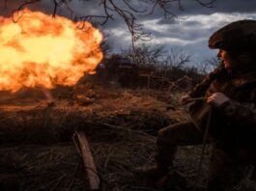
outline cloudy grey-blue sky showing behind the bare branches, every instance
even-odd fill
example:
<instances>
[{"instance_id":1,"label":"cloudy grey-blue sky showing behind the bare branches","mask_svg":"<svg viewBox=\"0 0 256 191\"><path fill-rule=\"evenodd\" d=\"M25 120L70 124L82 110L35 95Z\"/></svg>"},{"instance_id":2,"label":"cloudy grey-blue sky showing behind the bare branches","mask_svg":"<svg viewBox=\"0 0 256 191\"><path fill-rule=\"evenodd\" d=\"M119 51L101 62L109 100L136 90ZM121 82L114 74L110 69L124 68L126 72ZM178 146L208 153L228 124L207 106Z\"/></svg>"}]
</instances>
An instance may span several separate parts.
<instances>
[{"instance_id":1,"label":"cloudy grey-blue sky showing behind the bare branches","mask_svg":"<svg viewBox=\"0 0 256 191\"><path fill-rule=\"evenodd\" d=\"M206 0L204 0L206 2ZM0 2L3 2L1 0ZM8 16L21 0L9 0L6 7L1 5L0 14ZM76 15L101 14L99 0L79 1L72 0L71 8ZM120 0L115 2L120 3ZM136 8L145 8L139 1L131 1ZM144 29L152 34L150 44L165 45L167 48L181 48L192 55L194 63L202 62L216 54L216 50L208 48L208 39L218 28L240 19L256 19L255 0L216 0L213 8L200 6L196 1L183 0L185 11L179 10L179 5L173 3L171 11L179 19L165 19L160 9L149 16L138 16L137 22L144 25ZM52 0L42 0L31 9L52 13ZM58 14L70 16L68 9L63 7ZM113 13L111 13L113 14ZM115 20L110 20L105 26L100 27L104 33L109 34L108 42L114 52L118 52L130 45L130 34L122 17L113 14Z\"/></svg>"}]
</instances>

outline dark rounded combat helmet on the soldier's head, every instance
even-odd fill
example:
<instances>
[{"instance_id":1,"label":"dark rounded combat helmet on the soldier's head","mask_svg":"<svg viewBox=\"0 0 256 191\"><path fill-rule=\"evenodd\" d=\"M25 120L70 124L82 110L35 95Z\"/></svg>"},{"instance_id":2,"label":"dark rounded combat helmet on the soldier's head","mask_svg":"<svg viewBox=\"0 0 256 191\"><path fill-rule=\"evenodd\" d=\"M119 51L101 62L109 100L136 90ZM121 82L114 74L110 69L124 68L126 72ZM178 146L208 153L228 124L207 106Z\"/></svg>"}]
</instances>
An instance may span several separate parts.
<instances>
[{"instance_id":1,"label":"dark rounded combat helmet on the soldier's head","mask_svg":"<svg viewBox=\"0 0 256 191\"><path fill-rule=\"evenodd\" d=\"M213 33L210 48L225 50L255 50L256 20L232 22Z\"/></svg>"}]
</instances>

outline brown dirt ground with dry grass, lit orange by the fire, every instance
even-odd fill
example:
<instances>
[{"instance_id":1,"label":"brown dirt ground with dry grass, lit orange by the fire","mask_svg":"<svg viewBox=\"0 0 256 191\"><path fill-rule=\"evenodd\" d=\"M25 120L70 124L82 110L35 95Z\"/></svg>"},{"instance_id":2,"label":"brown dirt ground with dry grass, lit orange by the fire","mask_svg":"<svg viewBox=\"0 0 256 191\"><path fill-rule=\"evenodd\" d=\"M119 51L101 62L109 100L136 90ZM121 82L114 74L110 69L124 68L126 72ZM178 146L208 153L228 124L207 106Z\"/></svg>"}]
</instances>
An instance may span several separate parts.
<instances>
[{"instance_id":1,"label":"brown dirt ground with dry grass, lit orange by the fire","mask_svg":"<svg viewBox=\"0 0 256 191\"><path fill-rule=\"evenodd\" d=\"M89 140L101 190L165 189L153 188L132 172L154 164L158 129L188 120L177 102L181 94L89 83L51 92L54 106L40 90L0 94L0 190L90 190L72 139L76 131ZM174 168L205 185L210 150L207 147L200 178L200 146L180 148ZM181 182L172 184L172 190L183 190Z\"/></svg>"}]
</instances>

